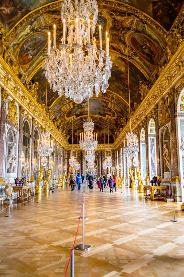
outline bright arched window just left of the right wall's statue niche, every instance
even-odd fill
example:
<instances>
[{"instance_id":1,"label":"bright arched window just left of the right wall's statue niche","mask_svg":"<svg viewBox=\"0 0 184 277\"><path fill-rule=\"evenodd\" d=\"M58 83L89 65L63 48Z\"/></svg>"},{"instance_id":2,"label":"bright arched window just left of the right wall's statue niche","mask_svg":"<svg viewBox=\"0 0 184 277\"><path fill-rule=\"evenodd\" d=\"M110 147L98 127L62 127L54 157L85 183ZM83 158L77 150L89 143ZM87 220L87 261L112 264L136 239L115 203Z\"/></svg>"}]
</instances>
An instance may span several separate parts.
<instances>
[{"instance_id":1,"label":"bright arched window just left of the right wall's statue niche","mask_svg":"<svg viewBox=\"0 0 184 277\"><path fill-rule=\"evenodd\" d=\"M155 120L153 118L150 119L148 125L148 154L149 174L152 178L153 176L157 176Z\"/></svg>"}]
</instances>

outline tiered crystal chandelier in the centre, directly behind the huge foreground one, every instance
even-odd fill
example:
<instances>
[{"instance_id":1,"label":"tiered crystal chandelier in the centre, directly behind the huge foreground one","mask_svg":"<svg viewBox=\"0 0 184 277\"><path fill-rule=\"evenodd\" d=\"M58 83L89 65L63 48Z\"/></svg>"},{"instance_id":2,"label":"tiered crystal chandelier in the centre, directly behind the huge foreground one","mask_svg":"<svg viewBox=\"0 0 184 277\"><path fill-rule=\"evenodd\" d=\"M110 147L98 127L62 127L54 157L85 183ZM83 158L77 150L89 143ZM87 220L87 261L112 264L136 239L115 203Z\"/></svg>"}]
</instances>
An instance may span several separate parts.
<instances>
[{"instance_id":1,"label":"tiered crystal chandelier in the centre, directly behind the huge foreground one","mask_svg":"<svg viewBox=\"0 0 184 277\"><path fill-rule=\"evenodd\" d=\"M97 148L98 140L97 140L97 133L93 134L94 129L94 122L89 118L83 123L84 133L80 133L80 140L79 145L82 150L85 151L93 151Z\"/></svg>"}]
</instances>

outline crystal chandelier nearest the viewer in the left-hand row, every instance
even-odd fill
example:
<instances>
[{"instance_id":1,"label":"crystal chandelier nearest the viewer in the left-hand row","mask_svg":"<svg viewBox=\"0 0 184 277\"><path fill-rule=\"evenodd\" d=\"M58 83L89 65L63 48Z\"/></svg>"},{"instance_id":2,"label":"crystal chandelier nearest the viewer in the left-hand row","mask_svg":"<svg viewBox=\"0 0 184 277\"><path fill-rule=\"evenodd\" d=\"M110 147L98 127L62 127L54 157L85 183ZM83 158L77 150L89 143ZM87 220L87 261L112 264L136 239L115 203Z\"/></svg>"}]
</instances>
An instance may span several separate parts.
<instances>
[{"instance_id":1,"label":"crystal chandelier nearest the viewer in the left-hand row","mask_svg":"<svg viewBox=\"0 0 184 277\"><path fill-rule=\"evenodd\" d=\"M50 140L50 134L48 132L41 133L41 141L38 140L37 151L40 157L48 157L52 154L53 142Z\"/></svg>"}]
</instances>

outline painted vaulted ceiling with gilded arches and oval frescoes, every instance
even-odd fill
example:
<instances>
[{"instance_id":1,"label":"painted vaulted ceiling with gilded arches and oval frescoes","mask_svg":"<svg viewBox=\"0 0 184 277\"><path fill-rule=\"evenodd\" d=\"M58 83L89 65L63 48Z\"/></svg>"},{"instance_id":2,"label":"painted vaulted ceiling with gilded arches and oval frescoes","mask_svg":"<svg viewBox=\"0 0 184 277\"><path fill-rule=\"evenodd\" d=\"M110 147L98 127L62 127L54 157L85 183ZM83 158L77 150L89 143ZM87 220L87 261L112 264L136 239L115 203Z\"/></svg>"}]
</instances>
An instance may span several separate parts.
<instances>
[{"instance_id":1,"label":"painted vaulted ceiling with gilded arches and oval frescoes","mask_svg":"<svg viewBox=\"0 0 184 277\"><path fill-rule=\"evenodd\" d=\"M102 25L102 44L105 47L105 31L109 32L110 55L113 62L112 77L105 94L90 100L91 118L98 130L100 143L107 143L109 118L110 142L117 137L128 120L128 69L130 59L130 93L132 113L141 102L140 81L154 83L162 66L167 64L165 35L170 30L184 1L175 0L121 0L98 1L98 25ZM17 66L22 82L39 82L38 101L45 103L46 78L44 57L47 52L48 26L57 27L57 42L62 37L60 9L62 1L1 0L0 21L6 29L12 53L12 66ZM128 26L128 32L126 31ZM98 26L94 36L98 45ZM1 45L0 45L1 54ZM74 142L77 132L87 119L88 104L75 104L64 95L48 89L49 112L53 122L63 130L71 142L72 121ZM104 136L105 134L105 136Z\"/></svg>"}]
</instances>

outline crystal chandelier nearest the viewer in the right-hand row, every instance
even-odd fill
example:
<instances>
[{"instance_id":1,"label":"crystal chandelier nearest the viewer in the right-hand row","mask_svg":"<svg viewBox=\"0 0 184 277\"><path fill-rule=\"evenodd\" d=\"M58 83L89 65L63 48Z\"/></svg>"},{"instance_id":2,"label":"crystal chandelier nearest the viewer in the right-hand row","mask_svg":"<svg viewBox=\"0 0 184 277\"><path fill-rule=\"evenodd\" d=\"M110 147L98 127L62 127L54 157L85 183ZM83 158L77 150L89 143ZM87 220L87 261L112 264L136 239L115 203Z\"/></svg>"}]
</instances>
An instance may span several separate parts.
<instances>
[{"instance_id":1,"label":"crystal chandelier nearest the viewer in the right-hand row","mask_svg":"<svg viewBox=\"0 0 184 277\"><path fill-rule=\"evenodd\" d=\"M137 140L137 135L133 132L126 135L127 147L124 147L124 153L127 157L132 159L139 152L139 144Z\"/></svg>"}]
</instances>

